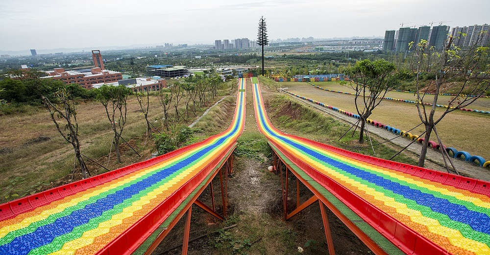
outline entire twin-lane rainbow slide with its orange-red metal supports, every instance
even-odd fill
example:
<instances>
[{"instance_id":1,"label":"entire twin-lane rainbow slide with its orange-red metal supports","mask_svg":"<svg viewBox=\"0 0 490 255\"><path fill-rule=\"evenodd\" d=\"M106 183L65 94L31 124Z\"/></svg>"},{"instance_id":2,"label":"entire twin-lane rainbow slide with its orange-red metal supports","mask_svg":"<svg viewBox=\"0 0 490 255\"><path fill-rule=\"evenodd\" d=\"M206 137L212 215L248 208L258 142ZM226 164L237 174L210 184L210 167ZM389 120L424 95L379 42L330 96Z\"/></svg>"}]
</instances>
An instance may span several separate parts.
<instances>
[{"instance_id":1,"label":"entire twin-lane rainbow slide with its orange-red metal supports","mask_svg":"<svg viewBox=\"0 0 490 255\"><path fill-rule=\"evenodd\" d=\"M221 134L153 159L0 205L0 254L149 255L193 205L224 219L227 176L244 129L245 81L255 117L281 177L284 219L320 204L330 255L326 207L377 255L490 254L490 183L348 152L274 128L256 77L239 79L235 115ZM219 175L223 215L199 201ZM284 178L285 175L285 178ZM293 177L293 176L294 177ZM288 211L291 181L313 192ZM296 189L299 190L299 189Z\"/></svg>"}]
</instances>

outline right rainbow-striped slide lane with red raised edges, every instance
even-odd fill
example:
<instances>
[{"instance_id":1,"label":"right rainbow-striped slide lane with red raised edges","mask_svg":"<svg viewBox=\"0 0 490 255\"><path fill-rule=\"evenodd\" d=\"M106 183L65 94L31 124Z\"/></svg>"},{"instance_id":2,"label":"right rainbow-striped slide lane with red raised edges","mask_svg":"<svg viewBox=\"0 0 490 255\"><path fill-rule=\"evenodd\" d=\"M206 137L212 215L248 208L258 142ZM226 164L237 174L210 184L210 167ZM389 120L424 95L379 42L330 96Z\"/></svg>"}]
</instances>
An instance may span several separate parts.
<instances>
[{"instance_id":1,"label":"right rainbow-striped slide lane with red raised edges","mask_svg":"<svg viewBox=\"0 0 490 255\"><path fill-rule=\"evenodd\" d=\"M333 194L403 253L490 255L489 182L285 134L271 125L258 80L252 78L252 83L258 127L269 142L301 174Z\"/></svg>"}]
</instances>

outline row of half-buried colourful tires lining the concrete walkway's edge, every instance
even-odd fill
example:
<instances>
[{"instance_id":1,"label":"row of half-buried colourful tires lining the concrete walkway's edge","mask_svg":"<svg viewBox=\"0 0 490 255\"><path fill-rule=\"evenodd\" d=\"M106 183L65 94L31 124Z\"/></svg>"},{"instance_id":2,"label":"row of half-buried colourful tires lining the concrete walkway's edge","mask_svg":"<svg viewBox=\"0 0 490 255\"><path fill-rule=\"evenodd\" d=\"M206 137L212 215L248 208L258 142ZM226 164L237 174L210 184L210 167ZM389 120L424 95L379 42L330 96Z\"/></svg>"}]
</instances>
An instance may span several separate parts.
<instances>
[{"instance_id":1,"label":"row of half-buried colourful tires lining the concrete walkway's edge","mask_svg":"<svg viewBox=\"0 0 490 255\"><path fill-rule=\"evenodd\" d=\"M331 110L334 110L334 111L337 111L337 112L340 112L344 115L347 115L349 117L352 117L352 118L355 118L355 119L361 119L361 116L359 116L358 114L354 114L352 112L348 112L348 111L345 111L343 109L340 109L340 108L337 108L335 106L332 106L332 105L328 105L328 104L324 104L322 102L317 102L313 99L309 99L309 98L306 98L306 97L303 97L303 96L299 96L299 95L296 95L292 92L289 92L287 90L283 90L281 89L282 92L286 92L292 96L295 96L297 98L300 98L302 100L305 100L305 101L308 101L308 102L312 102L312 103L315 103L315 104L318 104L322 107L325 107L325 108L328 108L328 109L331 109ZM377 122L377 121L374 121L374 120L371 120L371 119L367 119L366 122L376 128L384 128L390 132L392 132L393 134L397 134L397 135L400 135L400 136L403 136L403 137L407 137L408 139L411 139L412 141L415 141L417 140L417 142L419 143L423 143L424 142L424 138L421 138L419 137L418 135L416 134L412 134L408 131L405 131L405 130L401 130L399 128L394 128L394 127L391 127L389 125L386 125L386 124L382 124L381 122ZM430 148L434 149L434 150L441 150L441 146L435 142L435 141L429 141L428 142L428 145ZM453 147L446 147L446 146L442 146L442 148L444 148L446 150L446 152L449 154L449 156L452 156L453 158L459 158L459 159L464 159L465 161L469 161L469 162L474 162L474 163L477 163L478 165L482 166L482 167L490 167L490 161L486 161L485 158L483 158L482 156L477 156L477 155L471 155L470 153L468 152L465 152L465 151L458 151L457 149L453 148Z\"/></svg>"}]
</instances>

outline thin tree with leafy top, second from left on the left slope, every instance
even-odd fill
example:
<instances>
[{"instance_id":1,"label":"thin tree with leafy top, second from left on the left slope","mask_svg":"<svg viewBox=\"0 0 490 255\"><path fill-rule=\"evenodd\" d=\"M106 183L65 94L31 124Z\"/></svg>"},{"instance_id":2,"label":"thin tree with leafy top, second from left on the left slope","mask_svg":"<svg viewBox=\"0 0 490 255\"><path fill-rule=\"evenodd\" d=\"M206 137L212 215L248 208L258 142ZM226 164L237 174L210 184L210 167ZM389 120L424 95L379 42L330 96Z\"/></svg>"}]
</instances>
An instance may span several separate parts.
<instances>
[{"instance_id":1,"label":"thin tree with leafy top, second from left on the left slope","mask_svg":"<svg viewBox=\"0 0 490 255\"><path fill-rule=\"evenodd\" d=\"M121 163L121 153L119 145L123 135L124 125L126 125L126 105L127 97L132 94L132 90L124 85L108 86L102 85L97 89L97 99L105 107L107 118L111 122L111 128L114 132L114 145L118 163Z\"/></svg>"}]
</instances>

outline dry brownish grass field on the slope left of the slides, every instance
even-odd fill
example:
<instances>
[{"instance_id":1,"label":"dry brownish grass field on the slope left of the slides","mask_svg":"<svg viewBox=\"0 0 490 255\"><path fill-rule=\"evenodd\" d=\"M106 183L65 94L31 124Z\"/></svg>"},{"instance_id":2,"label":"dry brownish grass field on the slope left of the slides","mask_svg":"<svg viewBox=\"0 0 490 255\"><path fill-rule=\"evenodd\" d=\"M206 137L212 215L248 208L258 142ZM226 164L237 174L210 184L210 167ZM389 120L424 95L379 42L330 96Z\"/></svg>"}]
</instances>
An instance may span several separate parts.
<instances>
[{"instance_id":1,"label":"dry brownish grass field on the slope left of the slides","mask_svg":"<svg viewBox=\"0 0 490 255\"><path fill-rule=\"evenodd\" d=\"M233 86L234 88L234 86ZM196 116L191 114L187 124L192 123L202 112L222 96L230 94L230 86L220 92L221 96L209 102L206 107L197 109ZM163 110L156 96L150 96L148 120L161 128ZM169 111L173 116L173 109ZM81 152L106 165L113 139L112 129L107 119L105 109L96 101L80 101L77 104L77 120L79 125L79 139ZM223 125L225 126L225 125ZM35 183L54 181L54 184L63 184L57 179L66 182L66 176L73 169L73 147L66 143L52 123L49 112L39 107L28 114L6 115L0 118L0 187L5 187L9 179L23 177L26 180L25 190ZM147 159L151 154L152 141L146 138L146 123L135 96L128 99L127 122L123 131L123 138L128 141L142 157L136 155L127 146L122 144L123 163L117 164L114 153L110 158L109 169L116 169L124 165ZM46 138L49 137L49 138ZM90 163L87 161L87 163ZM89 170L92 174L105 171L93 165ZM3 198L1 198L3 200Z\"/></svg>"}]
</instances>

